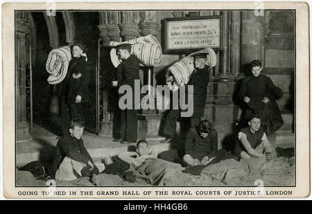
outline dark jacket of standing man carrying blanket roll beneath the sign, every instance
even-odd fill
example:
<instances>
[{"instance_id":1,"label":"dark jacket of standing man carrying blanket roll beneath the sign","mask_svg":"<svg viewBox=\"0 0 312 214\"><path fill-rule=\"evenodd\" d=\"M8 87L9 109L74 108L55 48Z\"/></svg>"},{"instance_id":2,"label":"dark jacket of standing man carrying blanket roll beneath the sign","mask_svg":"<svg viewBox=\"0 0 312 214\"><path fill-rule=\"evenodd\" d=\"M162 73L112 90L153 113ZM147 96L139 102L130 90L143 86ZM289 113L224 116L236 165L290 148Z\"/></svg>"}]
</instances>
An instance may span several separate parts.
<instances>
[{"instance_id":1,"label":"dark jacket of standing man carrying blanket roll beneath the sign","mask_svg":"<svg viewBox=\"0 0 312 214\"><path fill-rule=\"evenodd\" d=\"M204 114L209 73L208 66L205 66L203 69L196 69L191 73L189 82L187 83L187 85L193 85L193 116L200 117Z\"/></svg>"}]
</instances>

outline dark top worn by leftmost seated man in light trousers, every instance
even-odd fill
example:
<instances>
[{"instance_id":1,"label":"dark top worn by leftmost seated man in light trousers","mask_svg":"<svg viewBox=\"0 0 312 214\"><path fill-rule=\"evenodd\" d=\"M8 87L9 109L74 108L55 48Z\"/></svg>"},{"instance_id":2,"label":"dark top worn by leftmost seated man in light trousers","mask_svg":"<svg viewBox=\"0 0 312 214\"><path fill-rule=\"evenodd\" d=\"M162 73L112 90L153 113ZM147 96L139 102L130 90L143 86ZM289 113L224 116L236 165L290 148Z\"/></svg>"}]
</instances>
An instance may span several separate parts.
<instances>
[{"instance_id":1,"label":"dark top worn by leftmost seated man in light trousers","mask_svg":"<svg viewBox=\"0 0 312 214\"><path fill-rule=\"evenodd\" d=\"M70 159L83 162L85 164L87 164L88 161L94 163L92 157L89 152L87 152L85 145L83 144L83 139L77 140L72 136L64 136L58 140L58 144L55 148L55 154L51 163L50 171L52 177L55 176L55 172L58 170L64 157L69 157ZM96 169L96 166L94 166L94 170Z\"/></svg>"}]
</instances>

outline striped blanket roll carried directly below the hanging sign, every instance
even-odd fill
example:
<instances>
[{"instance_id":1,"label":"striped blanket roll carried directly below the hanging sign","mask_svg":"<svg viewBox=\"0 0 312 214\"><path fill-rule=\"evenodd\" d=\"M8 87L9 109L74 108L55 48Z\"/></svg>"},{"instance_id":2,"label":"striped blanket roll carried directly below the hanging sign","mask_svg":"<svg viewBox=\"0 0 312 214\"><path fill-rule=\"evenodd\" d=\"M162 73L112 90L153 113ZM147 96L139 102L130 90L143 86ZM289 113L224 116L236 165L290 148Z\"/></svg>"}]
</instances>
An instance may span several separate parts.
<instances>
[{"instance_id":1,"label":"striped blanket roll carried directly below the hanging sign","mask_svg":"<svg viewBox=\"0 0 312 214\"><path fill-rule=\"evenodd\" d=\"M205 64L209 66L209 68L216 66L216 53L212 48L196 51L186 57L183 57L181 60L168 67L166 71L166 83L171 90L176 91L180 86L189 82L189 77L195 69L193 64L194 60L191 55L196 53L208 53L207 62ZM173 78L171 78L171 76L173 76Z\"/></svg>"}]
</instances>

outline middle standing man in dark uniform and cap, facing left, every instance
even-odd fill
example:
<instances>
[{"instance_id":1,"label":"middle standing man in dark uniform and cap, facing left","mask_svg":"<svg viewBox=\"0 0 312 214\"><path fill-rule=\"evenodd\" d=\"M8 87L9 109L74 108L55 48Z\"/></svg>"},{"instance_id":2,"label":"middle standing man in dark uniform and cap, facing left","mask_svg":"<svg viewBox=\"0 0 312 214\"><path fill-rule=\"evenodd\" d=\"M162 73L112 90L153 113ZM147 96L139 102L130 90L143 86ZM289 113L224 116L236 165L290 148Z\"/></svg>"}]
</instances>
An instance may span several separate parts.
<instances>
[{"instance_id":1,"label":"middle standing man in dark uniform and cap, facing left","mask_svg":"<svg viewBox=\"0 0 312 214\"><path fill-rule=\"evenodd\" d=\"M117 67L116 79L113 86L128 85L132 89L131 108L121 109L121 143L137 143L137 109L135 106L135 80L139 77L139 59L131 55L130 44L120 44L116 47L116 53L123 62ZM119 93L119 98L125 93Z\"/></svg>"}]
</instances>

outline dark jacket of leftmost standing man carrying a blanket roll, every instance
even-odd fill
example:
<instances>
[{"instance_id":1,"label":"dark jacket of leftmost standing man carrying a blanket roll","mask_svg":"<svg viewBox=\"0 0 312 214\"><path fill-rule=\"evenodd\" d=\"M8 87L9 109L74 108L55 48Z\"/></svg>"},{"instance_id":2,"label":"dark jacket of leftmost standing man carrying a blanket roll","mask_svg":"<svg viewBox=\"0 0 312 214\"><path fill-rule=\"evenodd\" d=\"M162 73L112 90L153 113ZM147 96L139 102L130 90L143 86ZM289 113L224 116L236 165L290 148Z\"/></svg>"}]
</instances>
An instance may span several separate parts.
<instances>
[{"instance_id":1,"label":"dark jacket of leftmost standing man carrying a blanket roll","mask_svg":"<svg viewBox=\"0 0 312 214\"><path fill-rule=\"evenodd\" d=\"M67 75L68 81L68 103L76 103L76 96L81 96L81 102L89 101L89 66L85 57L73 57L69 62Z\"/></svg>"}]
</instances>

